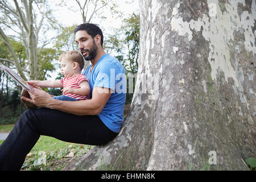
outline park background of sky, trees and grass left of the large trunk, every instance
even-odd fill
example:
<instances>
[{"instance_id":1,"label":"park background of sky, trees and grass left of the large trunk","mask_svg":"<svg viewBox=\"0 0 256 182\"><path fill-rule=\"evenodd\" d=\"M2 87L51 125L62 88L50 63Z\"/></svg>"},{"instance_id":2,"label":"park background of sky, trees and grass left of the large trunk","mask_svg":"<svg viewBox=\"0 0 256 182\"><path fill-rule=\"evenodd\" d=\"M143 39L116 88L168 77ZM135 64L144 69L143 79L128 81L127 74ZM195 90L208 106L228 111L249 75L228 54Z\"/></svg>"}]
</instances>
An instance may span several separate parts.
<instances>
[{"instance_id":1,"label":"park background of sky, trees and grass left of the large trunk","mask_svg":"<svg viewBox=\"0 0 256 182\"><path fill-rule=\"evenodd\" d=\"M31 12L28 12L30 4ZM83 22L98 24L104 34L105 51L117 57L127 74L137 73L138 1L0 1L0 7L0 62L18 72L24 80L61 78L59 55L77 49L73 29ZM27 30L30 23L32 29ZM31 31L34 40L29 40ZM34 46L34 49L29 46ZM13 49L13 54L10 49ZM38 57L37 63L31 61L35 58L32 57L33 51ZM89 61L85 67L88 65ZM19 67L20 70L16 69ZM52 95L61 94L59 88L43 89ZM5 137L26 110L20 102L21 90L20 85L0 70L0 133ZM133 93L127 93L125 115L132 97ZM3 141L0 139L0 144ZM93 146L42 136L28 154L22 170L59 170L90 148Z\"/></svg>"}]
</instances>

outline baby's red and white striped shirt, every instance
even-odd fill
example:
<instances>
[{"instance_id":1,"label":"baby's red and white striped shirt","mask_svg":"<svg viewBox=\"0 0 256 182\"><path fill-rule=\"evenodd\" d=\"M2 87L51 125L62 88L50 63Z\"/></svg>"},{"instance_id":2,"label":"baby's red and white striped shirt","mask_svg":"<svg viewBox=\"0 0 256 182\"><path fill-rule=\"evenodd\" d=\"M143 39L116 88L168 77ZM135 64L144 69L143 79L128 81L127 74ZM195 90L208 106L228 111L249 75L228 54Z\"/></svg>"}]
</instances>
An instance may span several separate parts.
<instances>
[{"instance_id":1,"label":"baby's red and white striped shirt","mask_svg":"<svg viewBox=\"0 0 256 182\"><path fill-rule=\"evenodd\" d=\"M72 76L70 78L64 77L60 81L63 84L64 88L71 86L72 88L78 89L78 88L81 88L79 86L79 84L81 84L82 81L88 81L88 80L85 77L85 75L80 73L79 75L75 75L75 76ZM71 94L71 93L67 93L67 94L63 94L63 95L75 98L76 100L88 100L88 99L90 99L89 96L79 96L77 94Z\"/></svg>"}]
</instances>

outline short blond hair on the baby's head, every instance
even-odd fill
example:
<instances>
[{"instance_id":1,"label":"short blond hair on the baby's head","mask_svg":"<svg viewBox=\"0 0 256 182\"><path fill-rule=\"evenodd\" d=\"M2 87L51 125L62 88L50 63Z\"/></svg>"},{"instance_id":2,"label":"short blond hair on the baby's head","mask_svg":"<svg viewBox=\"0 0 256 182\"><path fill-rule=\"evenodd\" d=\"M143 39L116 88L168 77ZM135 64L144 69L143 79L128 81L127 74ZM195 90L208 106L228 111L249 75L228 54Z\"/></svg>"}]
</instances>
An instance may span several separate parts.
<instances>
[{"instance_id":1,"label":"short blond hair on the baby's head","mask_svg":"<svg viewBox=\"0 0 256 182\"><path fill-rule=\"evenodd\" d=\"M59 61L61 62L63 58L78 63L81 70L84 68L84 57L79 51L66 51L60 55Z\"/></svg>"}]
</instances>

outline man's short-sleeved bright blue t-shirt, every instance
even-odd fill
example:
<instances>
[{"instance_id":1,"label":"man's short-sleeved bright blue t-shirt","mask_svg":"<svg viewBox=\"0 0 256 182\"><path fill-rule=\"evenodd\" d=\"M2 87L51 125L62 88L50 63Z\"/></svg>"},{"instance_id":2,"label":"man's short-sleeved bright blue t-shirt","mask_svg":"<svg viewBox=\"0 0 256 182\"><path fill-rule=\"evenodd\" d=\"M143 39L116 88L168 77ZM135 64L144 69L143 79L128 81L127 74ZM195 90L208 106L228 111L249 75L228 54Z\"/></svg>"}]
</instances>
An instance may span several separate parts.
<instances>
[{"instance_id":1,"label":"man's short-sleeved bright blue t-shirt","mask_svg":"<svg viewBox=\"0 0 256 182\"><path fill-rule=\"evenodd\" d=\"M125 69L115 57L107 54L101 56L92 72L91 68L92 64L83 72L90 84L90 97L92 98L94 86L114 91L98 117L110 130L119 133L123 123L126 97Z\"/></svg>"}]
</instances>

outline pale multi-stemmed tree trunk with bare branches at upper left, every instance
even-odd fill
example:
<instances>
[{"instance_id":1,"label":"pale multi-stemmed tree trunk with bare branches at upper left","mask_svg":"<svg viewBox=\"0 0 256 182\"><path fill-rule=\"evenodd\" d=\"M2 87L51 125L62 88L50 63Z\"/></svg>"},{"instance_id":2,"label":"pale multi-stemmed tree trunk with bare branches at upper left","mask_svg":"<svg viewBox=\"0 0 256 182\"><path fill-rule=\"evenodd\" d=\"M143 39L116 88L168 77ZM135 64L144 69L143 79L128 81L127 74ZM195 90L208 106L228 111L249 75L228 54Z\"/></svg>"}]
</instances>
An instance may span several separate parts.
<instances>
[{"instance_id":1,"label":"pale multi-stemmed tree trunk with bare branches at upper left","mask_svg":"<svg viewBox=\"0 0 256 182\"><path fill-rule=\"evenodd\" d=\"M27 59L29 64L29 73L30 73L30 80L38 80L39 78L39 65L38 65L38 56L37 56L37 48L38 48L38 34L40 29L42 28L42 23L46 14L48 14L46 10L46 6L43 6L43 9L40 9L40 20L38 19L38 15L35 14L35 10L33 9L32 3L38 5L39 2L34 1L27 1L23 0L18 3L18 1L14 0L14 4L16 9L13 6L9 5L9 3L0 1L0 7L3 9L3 13L13 15L11 18L11 22L19 22L12 24L13 27L19 29L19 37L22 39L24 46L26 47ZM40 2L44 4L43 2ZM39 6L38 6L39 8ZM9 16L10 17L10 16ZM36 20L38 20L38 24L36 24ZM14 29L16 29L14 28ZM0 28L0 37L2 37L3 42L5 43L8 51L10 52L11 56L14 60L14 65L19 73L19 75L24 79L27 80L24 72L22 70L22 66L19 63L18 56L14 52L11 43L3 30ZM45 45L44 45L45 46ZM42 47L41 47L42 48Z\"/></svg>"}]
</instances>

